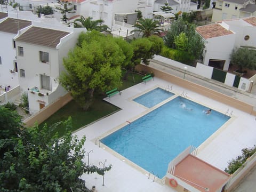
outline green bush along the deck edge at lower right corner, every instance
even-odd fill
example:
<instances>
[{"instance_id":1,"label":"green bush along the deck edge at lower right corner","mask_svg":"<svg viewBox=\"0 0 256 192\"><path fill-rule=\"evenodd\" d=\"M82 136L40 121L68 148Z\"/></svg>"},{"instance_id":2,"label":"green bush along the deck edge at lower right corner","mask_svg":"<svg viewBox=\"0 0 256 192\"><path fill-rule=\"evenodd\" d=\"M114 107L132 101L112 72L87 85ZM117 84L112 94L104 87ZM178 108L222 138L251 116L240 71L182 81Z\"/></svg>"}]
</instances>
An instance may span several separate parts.
<instances>
[{"instance_id":1,"label":"green bush along the deck edge at lower right corner","mask_svg":"<svg viewBox=\"0 0 256 192\"><path fill-rule=\"evenodd\" d=\"M241 167L246 159L251 157L256 152L256 146L254 145L252 148L244 148L242 149L242 155L236 157L236 159L232 159L228 162L228 167L225 169L225 172L228 174L233 174L239 167Z\"/></svg>"}]
</instances>

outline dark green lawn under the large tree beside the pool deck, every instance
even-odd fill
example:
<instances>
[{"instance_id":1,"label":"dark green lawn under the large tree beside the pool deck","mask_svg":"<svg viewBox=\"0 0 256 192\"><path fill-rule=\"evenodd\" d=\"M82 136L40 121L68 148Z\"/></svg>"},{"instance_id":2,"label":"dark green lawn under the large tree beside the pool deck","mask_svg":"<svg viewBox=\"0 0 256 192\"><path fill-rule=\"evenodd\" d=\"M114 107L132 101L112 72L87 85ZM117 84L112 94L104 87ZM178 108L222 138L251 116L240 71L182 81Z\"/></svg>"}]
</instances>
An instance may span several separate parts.
<instances>
[{"instance_id":1,"label":"dark green lawn under the large tree beside the pool deck","mask_svg":"<svg viewBox=\"0 0 256 192\"><path fill-rule=\"evenodd\" d=\"M119 87L119 89L124 90L128 87L138 84L142 81L141 78L142 76L139 74L129 74L127 76L127 79L123 80L123 84L121 87ZM51 117L47 118L43 123L39 125L39 127L42 127L45 123L47 124L47 126L50 126L53 123L65 121L68 119L68 117L72 117L72 131L75 131L85 125L88 125L102 117L105 117L119 110L118 107L111 105L106 101L103 101L102 99L105 97L106 95L97 95L95 97L93 105L87 111L82 110L82 108L74 100L72 100L69 103L67 103L67 105L59 109L56 113L54 113ZM61 125L57 127L56 131L59 132L60 136L62 136L65 133L64 127Z\"/></svg>"}]
</instances>

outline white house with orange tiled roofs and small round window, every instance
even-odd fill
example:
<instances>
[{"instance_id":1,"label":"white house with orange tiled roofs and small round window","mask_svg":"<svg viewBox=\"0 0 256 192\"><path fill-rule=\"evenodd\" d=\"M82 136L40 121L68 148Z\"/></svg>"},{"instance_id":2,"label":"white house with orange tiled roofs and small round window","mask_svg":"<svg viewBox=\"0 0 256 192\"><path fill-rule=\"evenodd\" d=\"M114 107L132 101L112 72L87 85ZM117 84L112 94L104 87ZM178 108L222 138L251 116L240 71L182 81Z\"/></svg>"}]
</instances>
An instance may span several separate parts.
<instances>
[{"instance_id":1,"label":"white house with orange tiled roofs and small round window","mask_svg":"<svg viewBox=\"0 0 256 192\"><path fill-rule=\"evenodd\" d=\"M230 54L235 47L256 47L256 17L225 20L197 27L196 31L205 42L204 65L222 70L228 70Z\"/></svg>"}]
</instances>

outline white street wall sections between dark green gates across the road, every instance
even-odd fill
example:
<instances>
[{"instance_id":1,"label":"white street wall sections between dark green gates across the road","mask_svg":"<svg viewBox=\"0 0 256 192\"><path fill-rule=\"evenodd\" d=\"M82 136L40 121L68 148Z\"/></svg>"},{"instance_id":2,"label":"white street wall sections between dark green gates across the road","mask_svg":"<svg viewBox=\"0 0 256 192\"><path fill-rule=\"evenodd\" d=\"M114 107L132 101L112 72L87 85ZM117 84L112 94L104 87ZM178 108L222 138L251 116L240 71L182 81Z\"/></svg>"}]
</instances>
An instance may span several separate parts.
<instances>
[{"instance_id":1,"label":"white street wall sections between dark green gates across the road","mask_svg":"<svg viewBox=\"0 0 256 192\"><path fill-rule=\"evenodd\" d=\"M170 65L170 66L173 66L173 67L180 68L181 70L184 70L185 67L186 67L186 71L189 71L191 73L194 73L194 74L197 74L197 75L200 75L202 77L209 78L209 79L212 78L213 67L203 65L202 63L197 62L196 67L192 67L192 66L188 66L186 64L183 64L181 62L174 61L172 59L162 57L160 55L155 55L154 60L159 61L159 62L163 62L166 65ZM236 76L235 74L227 73L224 84L232 87L233 84L234 84L234 81L235 81L235 76ZM255 77L255 79L256 79L256 77ZM251 92L251 87L252 87L251 84L252 83L253 83L252 79L246 79L244 77L241 77L239 85L238 85L238 89L242 90L242 91Z\"/></svg>"}]
</instances>

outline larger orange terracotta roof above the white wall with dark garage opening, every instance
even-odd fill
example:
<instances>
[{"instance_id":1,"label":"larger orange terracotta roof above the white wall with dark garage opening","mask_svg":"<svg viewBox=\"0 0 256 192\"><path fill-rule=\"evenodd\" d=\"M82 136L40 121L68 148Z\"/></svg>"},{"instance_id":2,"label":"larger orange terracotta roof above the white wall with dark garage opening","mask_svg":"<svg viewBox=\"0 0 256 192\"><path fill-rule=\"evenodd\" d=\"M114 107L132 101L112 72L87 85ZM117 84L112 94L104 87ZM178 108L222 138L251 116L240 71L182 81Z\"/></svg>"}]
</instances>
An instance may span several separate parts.
<instances>
[{"instance_id":1,"label":"larger orange terracotta roof above the white wall with dark garage opening","mask_svg":"<svg viewBox=\"0 0 256 192\"><path fill-rule=\"evenodd\" d=\"M218 23L197 27L196 31L205 39L233 34L232 31L225 29Z\"/></svg>"}]
</instances>

